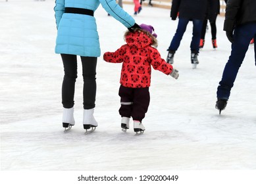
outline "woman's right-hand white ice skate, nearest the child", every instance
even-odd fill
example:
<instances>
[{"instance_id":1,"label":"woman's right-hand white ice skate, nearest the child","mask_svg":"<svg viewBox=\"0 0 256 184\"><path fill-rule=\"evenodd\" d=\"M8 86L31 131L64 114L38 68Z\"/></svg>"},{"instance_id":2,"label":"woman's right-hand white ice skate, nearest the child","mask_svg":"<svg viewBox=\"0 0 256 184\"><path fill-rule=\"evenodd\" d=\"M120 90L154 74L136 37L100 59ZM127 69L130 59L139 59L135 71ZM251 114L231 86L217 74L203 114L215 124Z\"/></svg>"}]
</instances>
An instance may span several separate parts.
<instances>
[{"instance_id":1,"label":"woman's right-hand white ice skate, nearest the child","mask_svg":"<svg viewBox=\"0 0 256 184\"><path fill-rule=\"evenodd\" d=\"M86 129L86 133L91 133L96 129L98 123L96 122L93 116L94 108L84 109L84 129Z\"/></svg>"}]
</instances>

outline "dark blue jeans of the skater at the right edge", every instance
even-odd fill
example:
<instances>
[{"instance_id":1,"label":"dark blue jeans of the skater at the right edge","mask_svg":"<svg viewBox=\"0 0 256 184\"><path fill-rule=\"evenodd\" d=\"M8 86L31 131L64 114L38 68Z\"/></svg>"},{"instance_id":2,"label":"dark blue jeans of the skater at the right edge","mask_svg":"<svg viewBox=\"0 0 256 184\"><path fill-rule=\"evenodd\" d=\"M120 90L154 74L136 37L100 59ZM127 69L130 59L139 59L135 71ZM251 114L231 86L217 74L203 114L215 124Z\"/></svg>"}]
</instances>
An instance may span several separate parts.
<instances>
[{"instance_id":1,"label":"dark blue jeans of the skater at the right edge","mask_svg":"<svg viewBox=\"0 0 256 184\"><path fill-rule=\"evenodd\" d=\"M234 42L232 43L231 55L226 63L222 74L222 80L220 81L217 89L217 98L226 99L230 97L231 88L236 80L236 75L243 62L245 53L248 50L249 43L254 37L256 39L256 23L245 24L238 26L234 30ZM254 44L254 52L256 53L256 44ZM255 54L256 64L256 54Z\"/></svg>"}]
</instances>

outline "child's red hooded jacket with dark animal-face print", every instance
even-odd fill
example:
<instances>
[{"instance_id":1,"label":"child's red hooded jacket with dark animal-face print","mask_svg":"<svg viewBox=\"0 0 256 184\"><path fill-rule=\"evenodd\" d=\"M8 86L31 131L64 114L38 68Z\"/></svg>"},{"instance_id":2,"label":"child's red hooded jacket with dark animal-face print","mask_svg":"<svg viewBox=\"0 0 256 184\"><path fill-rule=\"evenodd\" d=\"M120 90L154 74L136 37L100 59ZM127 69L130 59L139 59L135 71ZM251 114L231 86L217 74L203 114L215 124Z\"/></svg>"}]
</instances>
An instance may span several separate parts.
<instances>
[{"instance_id":1,"label":"child's red hooded jacket with dark animal-face print","mask_svg":"<svg viewBox=\"0 0 256 184\"><path fill-rule=\"evenodd\" d=\"M114 53L104 53L107 62L122 62L120 84L124 87L149 87L151 81L151 66L168 75L172 65L165 62L154 47L152 40L143 32L126 35L126 43Z\"/></svg>"}]
</instances>

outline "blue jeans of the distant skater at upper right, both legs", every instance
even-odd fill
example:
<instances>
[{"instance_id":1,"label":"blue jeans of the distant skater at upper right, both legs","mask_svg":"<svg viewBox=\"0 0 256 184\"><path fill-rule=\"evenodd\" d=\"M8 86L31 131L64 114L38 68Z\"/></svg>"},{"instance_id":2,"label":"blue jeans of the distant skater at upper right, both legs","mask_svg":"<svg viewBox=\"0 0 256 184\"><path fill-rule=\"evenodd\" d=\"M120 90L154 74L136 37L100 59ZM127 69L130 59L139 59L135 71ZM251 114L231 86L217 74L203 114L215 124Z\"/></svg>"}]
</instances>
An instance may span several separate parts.
<instances>
[{"instance_id":1,"label":"blue jeans of the distant skater at upper right, both legs","mask_svg":"<svg viewBox=\"0 0 256 184\"><path fill-rule=\"evenodd\" d=\"M182 37L186 32L188 22L190 22L190 19L188 18L179 18L178 28L176 30L174 37L172 38L172 41L170 42L168 51L177 51L178 47L180 46L180 41L182 40ZM199 43L201 37L201 30L203 26L203 20L192 19L192 22L193 36L190 44L190 50L192 53L199 53Z\"/></svg>"}]
</instances>

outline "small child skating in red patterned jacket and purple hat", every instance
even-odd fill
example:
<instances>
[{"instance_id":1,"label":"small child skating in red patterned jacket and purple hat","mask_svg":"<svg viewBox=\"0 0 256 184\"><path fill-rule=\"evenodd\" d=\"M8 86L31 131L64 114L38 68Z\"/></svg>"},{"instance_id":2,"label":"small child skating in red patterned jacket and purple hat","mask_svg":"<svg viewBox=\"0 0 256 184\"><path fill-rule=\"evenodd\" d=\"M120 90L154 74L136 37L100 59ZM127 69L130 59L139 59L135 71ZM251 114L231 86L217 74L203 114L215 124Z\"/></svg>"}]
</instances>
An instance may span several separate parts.
<instances>
[{"instance_id":1,"label":"small child skating in red patterned jacket and purple hat","mask_svg":"<svg viewBox=\"0 0 256 184\"><path fill-rule=\"evenodd\" d=\"M172 78L178 79L178 70L165 62L157 47L157 34L153 33L153 26L141 24L134 32L124 34L126 41L115 52L107 52L103 59L107 62L122 62L120 76L121 97L119 114L122 116L121 127L123 131L129 128L130 117L134 120L134 131L143 132L145 127L141 121L145 117L149 106L149 86L151 80L151 66ZM152 47L152 46L154 47Z\"/></svg>"}]
</instances>

